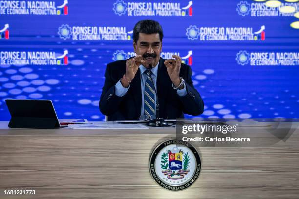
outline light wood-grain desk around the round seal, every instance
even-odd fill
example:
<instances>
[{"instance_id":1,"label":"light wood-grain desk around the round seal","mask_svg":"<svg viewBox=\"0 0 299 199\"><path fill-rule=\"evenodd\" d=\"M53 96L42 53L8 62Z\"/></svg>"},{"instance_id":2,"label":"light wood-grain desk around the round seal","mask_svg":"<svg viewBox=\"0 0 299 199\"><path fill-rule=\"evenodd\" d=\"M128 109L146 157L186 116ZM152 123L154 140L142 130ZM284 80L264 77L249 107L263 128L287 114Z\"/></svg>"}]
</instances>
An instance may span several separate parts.
<instances>
[{"instance_id":1,"label":"light wood-grain desk around the round seal","mask_svg":"<svg viewBox=\"0 0 299 199\"><path fill-rule=\"evenodd\" d=\"M175 128L9 129L0 122L0 199L298 199L299 129L269 147L198 148L202 170L186 190L160 187L149 156ZM298 127L298 123L295 124ZM4 190L34 189L33 196Z\"/></svg>"}]
</instances>

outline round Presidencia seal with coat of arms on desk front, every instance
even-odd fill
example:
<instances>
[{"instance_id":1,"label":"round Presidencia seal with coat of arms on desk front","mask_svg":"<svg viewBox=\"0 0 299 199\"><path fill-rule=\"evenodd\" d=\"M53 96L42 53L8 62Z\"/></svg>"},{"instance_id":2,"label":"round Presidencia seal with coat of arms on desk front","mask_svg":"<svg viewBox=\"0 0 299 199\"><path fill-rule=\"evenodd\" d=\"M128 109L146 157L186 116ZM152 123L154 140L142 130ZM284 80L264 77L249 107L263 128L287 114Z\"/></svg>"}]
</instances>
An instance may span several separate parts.
<instances>
[{"instance_id":1,"label":"round Presidencia seal with coat of arms on desk front","mask_svg":"<svg viewBox=\"0 0 299 199\"><path fill-rule=\"evenodd\" d=\"M200 168L198 152L182 140L171 139L159 144L149 159L152 178L160 186L173 191L191 186L198 178Z\"/></svg>"}]
</instances>

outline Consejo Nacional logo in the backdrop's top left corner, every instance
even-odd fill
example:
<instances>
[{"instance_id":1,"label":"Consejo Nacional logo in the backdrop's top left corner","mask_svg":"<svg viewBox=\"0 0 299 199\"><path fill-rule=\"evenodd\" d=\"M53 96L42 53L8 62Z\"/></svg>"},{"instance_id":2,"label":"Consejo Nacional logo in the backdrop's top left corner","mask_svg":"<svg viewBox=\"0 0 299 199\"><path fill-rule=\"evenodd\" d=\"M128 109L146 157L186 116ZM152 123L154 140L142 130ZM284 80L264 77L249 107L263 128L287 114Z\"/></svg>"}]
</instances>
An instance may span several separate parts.
<instances>
[{"instance_id":1,"label":"Consejo Nacional logo in the backdrop's top left corner","mask_svg":"<svg viewBox=\"0 0 299 199\"><path fill-rule=\"evenodd\" d=\"M56 6L55 1L1 0L1 15L68 15L68 1Z\"/></svg>"}]
</instances>

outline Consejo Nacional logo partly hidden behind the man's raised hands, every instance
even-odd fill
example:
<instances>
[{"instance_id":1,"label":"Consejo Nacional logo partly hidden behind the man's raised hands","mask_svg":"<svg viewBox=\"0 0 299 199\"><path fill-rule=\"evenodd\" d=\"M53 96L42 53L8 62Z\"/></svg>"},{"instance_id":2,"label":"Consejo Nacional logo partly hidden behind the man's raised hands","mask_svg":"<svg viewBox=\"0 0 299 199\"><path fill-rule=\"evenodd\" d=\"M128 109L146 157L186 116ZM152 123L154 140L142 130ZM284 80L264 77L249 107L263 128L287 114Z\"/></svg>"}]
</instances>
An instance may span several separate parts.
<instances>
[{"instance_id":1,"label":"Consejo Nacional logo partly hidden behind the man's raised hands","mask_svg":"<svg viewBox=\"0 0 299 199\"><path fill-rule=\"evenodd\" d=\"M180 56L180 53L179 52L161 52L161 57L164 59L173 59L172 55ZM133 56L136 56L136 53L125 52L123 50L117 50L113 53L112 60L114 60L114 61L126 60ZM188 54L181 58L182 58L182 63L192 66L192 64L193 64L192 50L188 51Z\"/></svg>"}]
</instances>

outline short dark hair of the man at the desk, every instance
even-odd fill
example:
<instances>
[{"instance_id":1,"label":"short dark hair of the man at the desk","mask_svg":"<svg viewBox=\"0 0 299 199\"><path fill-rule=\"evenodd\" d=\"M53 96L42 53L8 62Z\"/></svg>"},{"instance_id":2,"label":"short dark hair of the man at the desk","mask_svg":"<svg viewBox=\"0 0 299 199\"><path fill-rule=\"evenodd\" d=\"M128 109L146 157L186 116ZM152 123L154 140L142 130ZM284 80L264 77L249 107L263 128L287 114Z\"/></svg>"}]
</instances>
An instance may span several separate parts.
<instances>
[{"instance_id":1,"label":"short dark hair of the man at the desk","mask_svg":"<svg viewBox=\"0 0 299 199\"><path fill-rule=\"evenodd\" d=\"M154 20L141 20L138 21L133 30L133 40L137 43L139 39L139 33L154 34L159 33L160 41L162 43L163 30L161 25Z\"/></svg>"}]
</instances>

